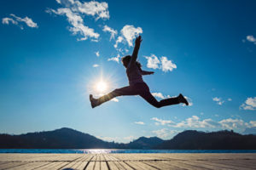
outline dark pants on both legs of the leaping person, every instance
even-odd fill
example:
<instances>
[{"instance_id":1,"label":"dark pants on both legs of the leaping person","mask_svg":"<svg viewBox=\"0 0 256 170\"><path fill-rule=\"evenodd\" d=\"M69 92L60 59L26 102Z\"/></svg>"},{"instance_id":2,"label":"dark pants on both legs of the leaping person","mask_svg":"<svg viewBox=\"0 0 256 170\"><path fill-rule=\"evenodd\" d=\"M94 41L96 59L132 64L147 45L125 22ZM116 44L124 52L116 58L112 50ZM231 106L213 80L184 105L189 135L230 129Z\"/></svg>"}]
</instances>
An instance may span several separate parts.
<instances>
[{"instance_id":1,"label":"dark pants on both legs of the leaping person","mask_svg":"<svg viewBox=\"0 0 256 170\"><path fill-rule=\"evenodd\" d=\"M97 99L97 104L102 105L102 103L110 99L125 95L140 95L143 99L148 101L150 105L154 105L154 107L156 108L160 108L166 105L177 105L180 103L177 97L157 101L154 98L154 96L150 93L148 85L145 82L142 82L124 88L117 88L113 90L111 93L106 94L101 98Z\"/></svg>"}]
</instances>

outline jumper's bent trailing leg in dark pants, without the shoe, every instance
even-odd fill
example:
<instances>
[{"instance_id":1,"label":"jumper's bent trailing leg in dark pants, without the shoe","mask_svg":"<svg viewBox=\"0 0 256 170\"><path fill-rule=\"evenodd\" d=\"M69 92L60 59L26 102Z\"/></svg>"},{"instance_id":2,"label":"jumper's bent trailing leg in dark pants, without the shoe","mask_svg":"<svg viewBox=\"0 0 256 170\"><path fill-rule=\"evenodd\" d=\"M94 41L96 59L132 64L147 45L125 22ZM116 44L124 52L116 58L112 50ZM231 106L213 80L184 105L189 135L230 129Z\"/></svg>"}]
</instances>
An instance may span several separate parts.
<instances>
[{"instance_id":1,"label":"jumper's bent trailing leg in dark pants, without the shoe","mask_svg":"<svg viewBox=\"0 0 256 170\"><path fill-rule=\"evenodd\" d=\"M159 102L154 98L154 96L149 91L143 92L142 94L140 94L140 96L143 97L143 99L145 99L146 101L148 101L150 105L154 105L154 107L156 108L160 108L166 105L177 105L180 103L177 97L162 99Z\"/></svg>"}]
</instances>

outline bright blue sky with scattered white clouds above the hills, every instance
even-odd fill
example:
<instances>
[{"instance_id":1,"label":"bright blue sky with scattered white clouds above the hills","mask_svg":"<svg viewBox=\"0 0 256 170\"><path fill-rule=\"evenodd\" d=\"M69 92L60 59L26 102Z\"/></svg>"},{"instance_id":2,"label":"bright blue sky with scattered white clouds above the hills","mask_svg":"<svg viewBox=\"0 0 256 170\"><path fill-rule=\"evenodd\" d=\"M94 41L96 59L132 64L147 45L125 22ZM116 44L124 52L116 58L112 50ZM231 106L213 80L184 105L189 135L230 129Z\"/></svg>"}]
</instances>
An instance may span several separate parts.
<instances>
[{"instance_id":1,"label":"bright blue sky with scattered white clouds above the hills","mask_svg":"<svg viewBox=\"0 0 256 170\"><path fill-rule=\"evenodd\" d=\"M255 8L248 0L0 1L0 133L71 127L127 143L256 127ZM181 93L189 106L157 109L125 96L91 109L89 94L128 85L120 59L138 35L138 60L154 71L143 77L150 92Z\"/></svg>"}]
</instances>

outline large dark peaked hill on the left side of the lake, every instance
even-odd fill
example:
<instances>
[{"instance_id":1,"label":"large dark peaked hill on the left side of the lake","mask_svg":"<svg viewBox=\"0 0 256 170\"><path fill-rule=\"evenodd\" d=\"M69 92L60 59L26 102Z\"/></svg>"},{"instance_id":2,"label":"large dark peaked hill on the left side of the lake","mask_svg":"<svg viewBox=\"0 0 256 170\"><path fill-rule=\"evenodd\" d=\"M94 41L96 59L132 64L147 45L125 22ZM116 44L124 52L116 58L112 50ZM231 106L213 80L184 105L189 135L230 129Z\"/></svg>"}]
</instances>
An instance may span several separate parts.
<instances>
[{"instance_id":1,"label":"large dark peaked hill on the left side of the lake","mask_svg":"<svg viewBox=\"0 0 256 170\"><path fill-rule=\"evenodd\" d=\"M115 146L114 143L105 142L67 127L40 133L0 135L0 148L81 149L115 148Z\"/></svg>"}]
</instances>

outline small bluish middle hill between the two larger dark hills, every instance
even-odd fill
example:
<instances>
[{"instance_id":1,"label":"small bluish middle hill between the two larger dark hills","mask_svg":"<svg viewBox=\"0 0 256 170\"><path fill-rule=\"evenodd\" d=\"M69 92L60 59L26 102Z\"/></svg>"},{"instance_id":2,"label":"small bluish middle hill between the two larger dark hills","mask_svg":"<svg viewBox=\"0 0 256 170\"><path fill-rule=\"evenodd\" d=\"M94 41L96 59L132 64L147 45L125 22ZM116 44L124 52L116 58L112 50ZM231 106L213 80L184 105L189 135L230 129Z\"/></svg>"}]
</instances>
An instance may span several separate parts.
<instances>
[{"instance_id":1,"label":"small bluish middle hill between the two larger dark hills","mask_svg":"<svg viewBox=\"0 0 256 170\"><path fill-rule=\"evenodd\" d=\"M133 140L129 144L126 144L129 149L151 149L156 145L162 144L165 140L157 137L141 137L139 139Z\"/></svg>"}]
</instances>

